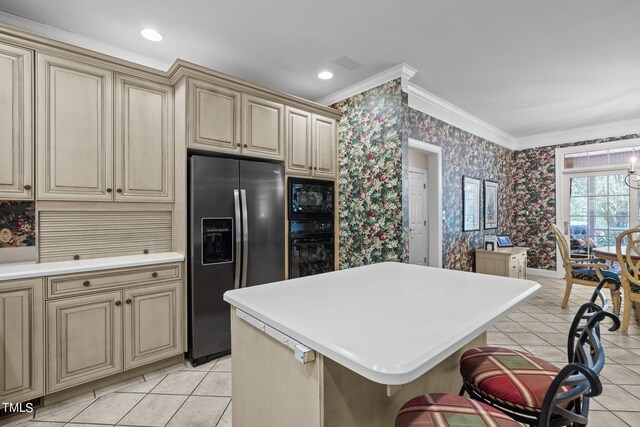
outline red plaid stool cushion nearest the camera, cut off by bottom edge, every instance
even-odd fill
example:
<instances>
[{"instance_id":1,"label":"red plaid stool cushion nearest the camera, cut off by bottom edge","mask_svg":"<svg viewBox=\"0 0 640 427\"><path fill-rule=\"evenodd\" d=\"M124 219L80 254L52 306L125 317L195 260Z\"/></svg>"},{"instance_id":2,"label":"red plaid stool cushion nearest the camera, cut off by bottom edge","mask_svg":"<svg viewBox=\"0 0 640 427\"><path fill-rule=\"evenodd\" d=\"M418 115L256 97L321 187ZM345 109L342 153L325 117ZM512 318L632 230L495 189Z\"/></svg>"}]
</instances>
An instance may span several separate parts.
<instances>
[{"instance_id":1,"label":"red plaid stool cushion nearest the camera, cut off by bottom edge","mask_svg":"<svg viewBox=\"0 0 640 427\"><path fill-rule=\"evenodd\" d=\"M445 393L414 397L396 417L396 427L430 426L521 427L521 424L489 405Z\"/></svg>"}]
</instances>

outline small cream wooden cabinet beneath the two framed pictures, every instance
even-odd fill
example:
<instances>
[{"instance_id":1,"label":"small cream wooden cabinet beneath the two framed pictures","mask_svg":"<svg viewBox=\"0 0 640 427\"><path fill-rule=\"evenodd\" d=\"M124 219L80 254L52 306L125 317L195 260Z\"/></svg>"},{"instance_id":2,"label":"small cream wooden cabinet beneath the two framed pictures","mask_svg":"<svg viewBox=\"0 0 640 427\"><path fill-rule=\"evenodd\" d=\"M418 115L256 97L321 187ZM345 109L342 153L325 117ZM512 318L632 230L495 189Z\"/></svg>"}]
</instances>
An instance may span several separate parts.
<instances>
[{"instance_id":1,"label":"small cream wooden cabinet beneath the two framed pictures","mask_svg":"<svg viewBox=\"0 0 640 427\"><path fill-rule=\"evenodd\" d=\"M476 249L476 273L526 279L528 250L521 246L498 248L495 251Z\"/></svg>"}]
</instances>

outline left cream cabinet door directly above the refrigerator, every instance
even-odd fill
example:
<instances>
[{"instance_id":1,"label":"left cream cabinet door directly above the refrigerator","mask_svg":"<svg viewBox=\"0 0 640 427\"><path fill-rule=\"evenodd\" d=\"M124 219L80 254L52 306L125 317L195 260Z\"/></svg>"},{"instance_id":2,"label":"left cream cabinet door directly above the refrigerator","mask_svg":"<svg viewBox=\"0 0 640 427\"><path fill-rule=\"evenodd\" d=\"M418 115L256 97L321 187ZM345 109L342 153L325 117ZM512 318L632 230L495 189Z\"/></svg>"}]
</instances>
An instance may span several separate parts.
<instances>
[{"instance_id":1,"label":"left cream cabinet door directly above the refrigerator","mask_svg":"<svg viewBox=\"0 0 640 427\"><path fill-rule=\"evenodd\" d=\"M240 92L189 81L189 148L240 154Z\"/></svg>"}]
</instances>

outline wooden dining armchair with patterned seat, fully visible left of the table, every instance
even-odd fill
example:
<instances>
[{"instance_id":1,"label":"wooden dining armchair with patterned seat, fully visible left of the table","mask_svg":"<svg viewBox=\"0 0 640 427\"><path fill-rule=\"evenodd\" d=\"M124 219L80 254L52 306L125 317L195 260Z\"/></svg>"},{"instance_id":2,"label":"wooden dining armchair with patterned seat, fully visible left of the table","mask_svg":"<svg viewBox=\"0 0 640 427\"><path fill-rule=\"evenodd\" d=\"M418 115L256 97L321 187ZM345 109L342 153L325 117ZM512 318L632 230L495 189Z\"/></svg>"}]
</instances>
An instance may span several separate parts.
<instances>
[{"instance_id":1,"label":"wooden dining armchair with patterned seat, fully visible left of the table","mask_svg":"<svg viewBox=\"0 0 640 427\"><path fill-rule=\"evenodd\" d=\"M556 243L562 258L562 266L564 267L566 287L562 300L562 308L567 307L569 297L571 296L571 288L574 284L598 286L602 279L608 277L611 281L606 284L606 287L611 290L613 312L619 314L622 296L620 295L620 290L617 289L614 284L617 283L619 287L620 277L618 274L613 271L608 271L609 266L606 264L606 260L602 258L571 257L569 245L560 229L555 224L551 225L551 229L556 238Z\"/></svg>"}]
</instances>

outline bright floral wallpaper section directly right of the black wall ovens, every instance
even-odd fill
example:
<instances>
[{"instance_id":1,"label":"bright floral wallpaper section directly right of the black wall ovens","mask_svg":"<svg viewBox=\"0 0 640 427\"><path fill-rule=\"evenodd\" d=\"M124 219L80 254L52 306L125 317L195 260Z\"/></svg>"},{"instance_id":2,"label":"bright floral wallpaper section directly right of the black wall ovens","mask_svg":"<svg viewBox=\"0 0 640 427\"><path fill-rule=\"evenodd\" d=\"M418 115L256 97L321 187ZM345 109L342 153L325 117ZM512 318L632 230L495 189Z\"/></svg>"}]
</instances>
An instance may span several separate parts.
<instances>
[{"instance_id":1,"label":"bright floral wallpaper section directly right of the black wall ovens","mask_svg":"<svg viewBox=\"0 0 640 427\"><path fill-rule=\"evenodd\" d=\"M340 268L404 260L400 80L332 107L343 112L338 126Z\"/></svg>"}]
</instances>

